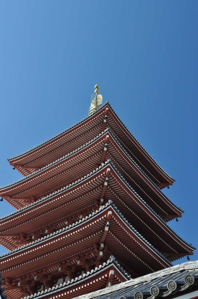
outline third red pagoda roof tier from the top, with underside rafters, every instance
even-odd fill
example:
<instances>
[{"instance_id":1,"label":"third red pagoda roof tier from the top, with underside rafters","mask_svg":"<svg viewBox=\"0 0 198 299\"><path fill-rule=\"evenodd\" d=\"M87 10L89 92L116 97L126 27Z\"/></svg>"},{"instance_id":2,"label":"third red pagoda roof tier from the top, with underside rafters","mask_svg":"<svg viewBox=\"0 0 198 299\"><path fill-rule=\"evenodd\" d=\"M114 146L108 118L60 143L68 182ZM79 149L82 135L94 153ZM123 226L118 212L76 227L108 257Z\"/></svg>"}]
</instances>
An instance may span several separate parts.
<instances>
[{"instance_id":1,"label":"third red pagoda roof tier from the top, with underside rafters","mask_svg":"<svg viewBox=\"0 0 198 299\"><path fill-rule=\"evenodd\" d=\"M51 196L2 217L1 244L13 249L32 238L44 237L92 213L102 199L104 202L111 199L139 233L147 236L169 260L192 254L195 249L171 230L109 162Z\"/></svg>"}]
</instances>

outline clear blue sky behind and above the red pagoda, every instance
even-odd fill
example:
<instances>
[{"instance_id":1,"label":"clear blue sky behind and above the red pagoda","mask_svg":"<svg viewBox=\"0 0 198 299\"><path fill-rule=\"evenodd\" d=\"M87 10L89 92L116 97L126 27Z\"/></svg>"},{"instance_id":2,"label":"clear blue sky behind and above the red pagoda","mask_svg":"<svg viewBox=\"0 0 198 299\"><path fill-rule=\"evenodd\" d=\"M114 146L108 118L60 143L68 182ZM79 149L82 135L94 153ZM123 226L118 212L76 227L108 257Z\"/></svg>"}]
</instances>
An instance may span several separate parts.
<instances>
[{"instance_id":1,"label":"clear blue sky behind and above the red pagoda","mask_svg":"<svg viewBox=\"0 0 198 299\"><path fill-rule=\"evenodd\" d=\"M169 225L198 248L197 14L198 1L1 1L0 186L21 178L7 158L85 118L98 84L176 180L164 192L185 213Z\"/></svg>"}]
</instances>

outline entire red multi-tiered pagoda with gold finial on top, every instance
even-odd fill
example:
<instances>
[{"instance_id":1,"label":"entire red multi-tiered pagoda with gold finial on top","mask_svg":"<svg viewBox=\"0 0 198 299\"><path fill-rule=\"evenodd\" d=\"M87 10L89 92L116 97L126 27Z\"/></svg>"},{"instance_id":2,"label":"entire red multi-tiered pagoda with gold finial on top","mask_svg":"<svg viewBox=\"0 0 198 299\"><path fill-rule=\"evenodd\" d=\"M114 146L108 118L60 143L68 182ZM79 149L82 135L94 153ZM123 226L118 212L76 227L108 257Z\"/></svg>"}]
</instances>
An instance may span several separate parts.
<instances>
[{"instance_id":1,"label":"entire red multi-tiered pagoda with gold finial on top","mask_svg":"<svg viewBox=\"0 0 198 299\"><path fill-rule=\"evenodd\" d=\"M24 178L0 188L16 209L0 219L4 298L75 298L193 254L167 224L174 179L98 89L88 117L8 159Z\"/></svg>"}]
</instances>

